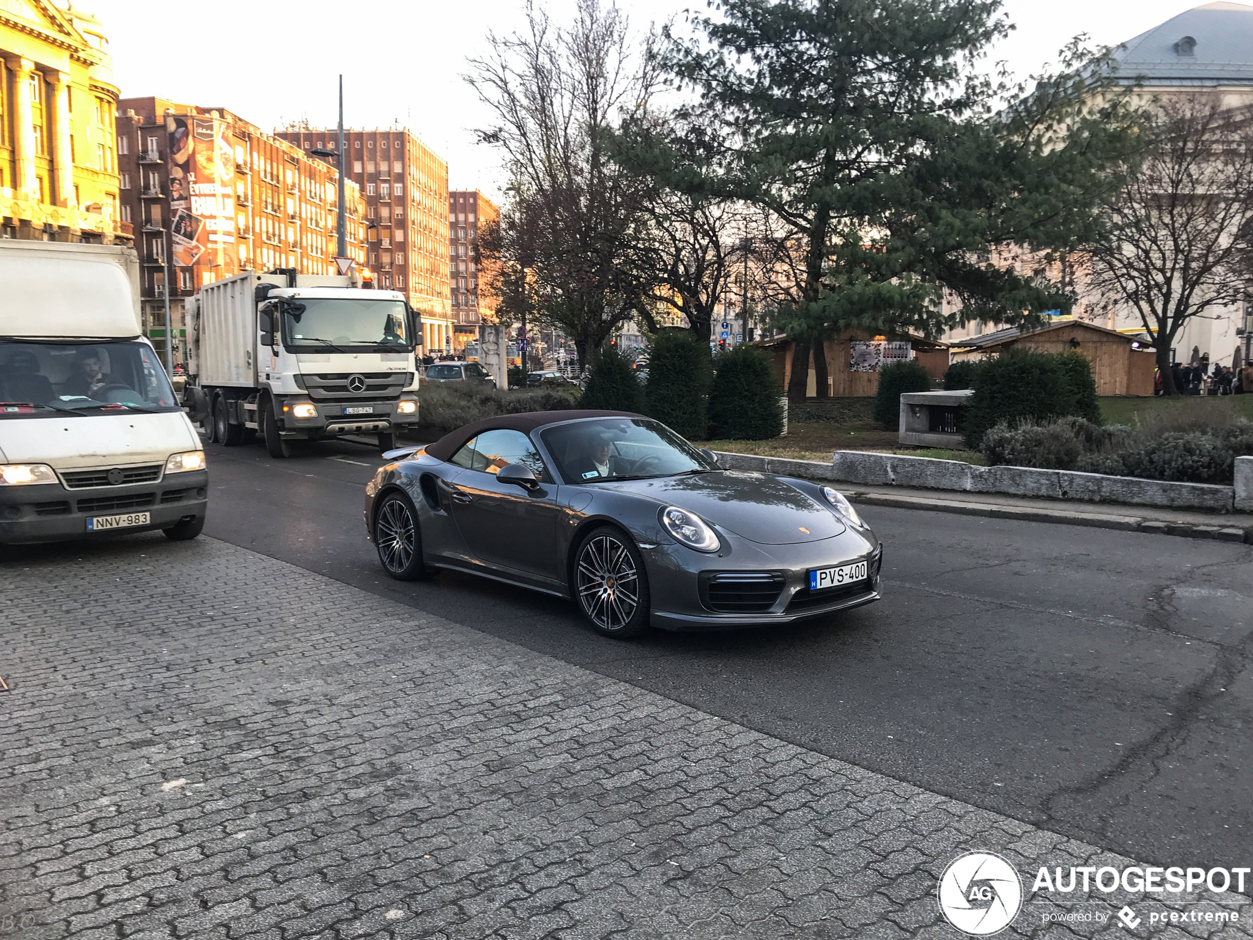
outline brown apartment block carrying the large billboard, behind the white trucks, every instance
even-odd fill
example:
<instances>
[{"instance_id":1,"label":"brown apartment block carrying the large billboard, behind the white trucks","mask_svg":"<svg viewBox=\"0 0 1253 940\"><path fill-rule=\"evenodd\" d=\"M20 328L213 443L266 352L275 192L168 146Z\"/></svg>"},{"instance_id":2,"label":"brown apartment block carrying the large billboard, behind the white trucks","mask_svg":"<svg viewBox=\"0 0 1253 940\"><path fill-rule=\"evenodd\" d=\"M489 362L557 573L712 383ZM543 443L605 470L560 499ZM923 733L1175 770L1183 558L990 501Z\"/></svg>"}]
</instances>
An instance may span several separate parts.
<instances>
[{"instance_id":1,"label":"brown apartment block carrying the large billboard, behind the white trucks","mask_svg":"<svg viewBox=\"0 0 1253 940\"><path fill-rule=\"evenodd\" d=\"M249 269L336 273L333 167L224 108L127 98L119 112L119 192L137 233L144 327L164 343L168 293L175 361L184 301L203 285ZM351 179L345 201L348 253L367 268L366 203Z\"/></svg>"}]
</instances>

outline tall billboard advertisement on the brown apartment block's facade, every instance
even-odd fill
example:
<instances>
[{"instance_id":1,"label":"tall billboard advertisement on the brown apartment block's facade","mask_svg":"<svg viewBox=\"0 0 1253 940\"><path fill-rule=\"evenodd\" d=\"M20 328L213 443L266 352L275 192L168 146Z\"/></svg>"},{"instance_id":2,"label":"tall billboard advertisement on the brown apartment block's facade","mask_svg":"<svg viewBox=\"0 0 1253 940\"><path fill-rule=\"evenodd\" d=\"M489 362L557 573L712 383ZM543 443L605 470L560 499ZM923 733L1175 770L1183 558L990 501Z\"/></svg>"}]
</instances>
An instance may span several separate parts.
<instances>
[{"instance_id":1,"label":"tall billboard advertisement on the brown apartment block's facade","mask_svg":"<svg viewBox=\"0 0 1253 940\"><path fill-rule=\"evenodd\" d=\"M234 149L221 118L168 118L172 261L217 268L212 279L239 269L234 214Z\"/></svg>"}]
</instances>

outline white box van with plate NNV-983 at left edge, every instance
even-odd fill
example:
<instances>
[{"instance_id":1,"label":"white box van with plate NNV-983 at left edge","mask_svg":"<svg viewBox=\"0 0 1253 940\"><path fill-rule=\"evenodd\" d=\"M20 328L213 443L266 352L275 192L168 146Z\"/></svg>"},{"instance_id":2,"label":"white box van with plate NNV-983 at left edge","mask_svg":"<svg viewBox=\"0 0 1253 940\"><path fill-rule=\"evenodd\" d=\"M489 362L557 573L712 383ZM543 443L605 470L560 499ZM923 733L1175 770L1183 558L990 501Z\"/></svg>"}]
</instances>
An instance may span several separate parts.
<instances>
[{"instance_id":1,"label":"white box van with plate NNV-983 at left edge","mask_svg":"<svg viewBox=\"0 0 1253 940\"><path fill-rule=\"evenodd\" d=\"M130 248L0 241L0 544L200 534L204 451L138 286Z\"/></svg>"}]
</instances>

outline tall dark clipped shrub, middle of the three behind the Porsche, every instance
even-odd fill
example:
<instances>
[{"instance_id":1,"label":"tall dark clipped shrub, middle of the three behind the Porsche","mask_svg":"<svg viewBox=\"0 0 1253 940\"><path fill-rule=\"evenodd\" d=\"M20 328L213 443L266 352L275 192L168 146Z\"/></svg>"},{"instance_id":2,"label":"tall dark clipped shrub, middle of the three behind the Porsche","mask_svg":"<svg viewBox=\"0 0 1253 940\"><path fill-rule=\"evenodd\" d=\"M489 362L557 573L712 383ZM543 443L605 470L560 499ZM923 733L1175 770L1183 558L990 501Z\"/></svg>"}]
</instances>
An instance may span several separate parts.
<instances>
[{"instance_id":1,"label":"tall dark clipped shrub, middle of the three behind the Porsche","mask_svg":"<svg viewBox=\"0 0 1253 940\"><path fill-rule=\"evenodd\" d=\"M663 331L648 356L644 414L688 440L703 441L712 384L709 346L688 330Z\"/></svg>"}]
</instances>

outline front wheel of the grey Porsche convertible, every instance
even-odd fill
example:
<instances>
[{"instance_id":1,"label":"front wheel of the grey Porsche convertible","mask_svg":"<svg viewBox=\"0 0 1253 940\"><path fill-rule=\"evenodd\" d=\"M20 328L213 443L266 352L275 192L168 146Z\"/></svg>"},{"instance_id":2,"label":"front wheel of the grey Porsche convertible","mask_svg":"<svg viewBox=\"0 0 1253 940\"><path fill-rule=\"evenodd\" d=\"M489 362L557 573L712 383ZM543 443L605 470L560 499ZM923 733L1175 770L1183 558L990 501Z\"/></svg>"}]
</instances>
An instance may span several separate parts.
<instances>
[{"instance_id":1,"label":"front wheel of the grey Porsche convertible","mask_svg":"<svg viewBox=\"0 0 1253 940\"><path fill-rule=\"evenodd\" d=\"M648 629L648 575L639 549L619 529L588 533L574 561L574 593L579 609L599 633L618 639Z\"/></svg>"}]
</instances>

